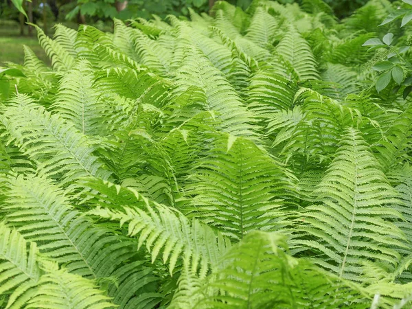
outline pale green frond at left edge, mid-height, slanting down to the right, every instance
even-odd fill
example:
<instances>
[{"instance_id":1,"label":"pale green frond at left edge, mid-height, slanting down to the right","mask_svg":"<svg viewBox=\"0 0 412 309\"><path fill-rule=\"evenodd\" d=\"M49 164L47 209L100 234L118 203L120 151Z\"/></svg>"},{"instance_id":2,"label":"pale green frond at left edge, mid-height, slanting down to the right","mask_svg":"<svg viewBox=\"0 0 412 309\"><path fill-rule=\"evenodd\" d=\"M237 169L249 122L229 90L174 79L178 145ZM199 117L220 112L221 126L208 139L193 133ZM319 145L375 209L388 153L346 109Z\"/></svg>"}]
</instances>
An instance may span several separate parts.
<instances>
[{"instance_id":1,"label":"pale green frond at left edge, mid-height, slanting down to the right","mask_svg":"<svg viewBox=\"0 0 412 309\"><path fill-rule=\"evenodd\" d=\"M27 95L16 95L2 121L11 140L39 162L38 171L58 177L62 185L83 176L108 179L111 174L93 155L95 146L84 135L58 115L52 115L35 104Z\"/></svg>"}]
</instances>

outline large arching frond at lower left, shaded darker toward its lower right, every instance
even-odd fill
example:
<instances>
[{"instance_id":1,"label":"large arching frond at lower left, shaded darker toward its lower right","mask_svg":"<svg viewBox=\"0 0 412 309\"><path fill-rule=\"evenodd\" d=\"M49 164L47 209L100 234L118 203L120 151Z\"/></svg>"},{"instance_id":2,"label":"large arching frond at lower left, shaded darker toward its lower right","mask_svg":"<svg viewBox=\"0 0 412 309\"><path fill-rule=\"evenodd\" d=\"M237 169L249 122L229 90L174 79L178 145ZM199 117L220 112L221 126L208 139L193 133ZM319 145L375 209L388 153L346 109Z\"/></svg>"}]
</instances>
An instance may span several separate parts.
<instances>
[{"instance_id":1,"label":"large arching frond at lower left, shaded darker toward its lower right","mask_svg":"<svg viewBox=\"0 0 412 309\"><path fill-rule=\"evenodd\" d=\"M108 285L107 291L119 308L151 308L144 304L159 302L160 295L152 286L157 277L136 260L135 242L93 225L48 179L19 176L9 182L8 206L4 207L8 222L27 240L38 242L43 255L82 277L114 277L115 284ZM142 304L141 297L146 297Z\"/></svg>"}]
</instances>

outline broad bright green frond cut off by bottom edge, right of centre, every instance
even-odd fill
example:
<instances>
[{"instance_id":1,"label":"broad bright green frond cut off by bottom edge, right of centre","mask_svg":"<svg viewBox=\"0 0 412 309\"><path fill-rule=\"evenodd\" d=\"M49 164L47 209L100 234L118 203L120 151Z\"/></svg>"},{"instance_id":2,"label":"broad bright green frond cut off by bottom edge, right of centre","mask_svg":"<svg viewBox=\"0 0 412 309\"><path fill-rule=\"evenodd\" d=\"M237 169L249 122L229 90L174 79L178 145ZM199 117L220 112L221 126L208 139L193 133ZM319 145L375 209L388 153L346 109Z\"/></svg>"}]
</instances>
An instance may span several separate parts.
<instances>
[{"instance_id":1,"label":"broad bright green frond cut off by bottom edge, right of centre","mask_svg":"<svg viewBox=\"0 0 412 309\"><path fill-rule=\"evenodd\" d=\"M202 298L186 308L369 308L360 302L360 287L295 260L284 249L286 238L278 233L249 233L225 256L226 266L197 291Z\"/></svg>"}]
</instances>

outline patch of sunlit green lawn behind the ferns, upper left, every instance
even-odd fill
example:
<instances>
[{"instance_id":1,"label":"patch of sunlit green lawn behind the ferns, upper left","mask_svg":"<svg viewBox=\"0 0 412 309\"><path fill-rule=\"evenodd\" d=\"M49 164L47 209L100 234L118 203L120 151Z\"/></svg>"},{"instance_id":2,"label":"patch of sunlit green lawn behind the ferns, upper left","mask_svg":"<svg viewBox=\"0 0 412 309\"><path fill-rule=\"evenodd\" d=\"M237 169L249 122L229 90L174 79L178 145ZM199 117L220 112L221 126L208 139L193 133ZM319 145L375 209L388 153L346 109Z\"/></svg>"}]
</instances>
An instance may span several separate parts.
<instances>
[{"instance_id":1,"label":"patch of sunlit green lawn behind the ferns, upper left","mask_svg":"<svg viewBox=\"0 0 412 309\"><path fill-rule=\"evenodd\" d=\"M38 45L35 30L31 37L20 36L18 23L10 21L7 23L0 22L0 67L9 61L23 64L23 45L30 47L41 60L49 61L41 46Z\"/></svg>"}]
</instances>

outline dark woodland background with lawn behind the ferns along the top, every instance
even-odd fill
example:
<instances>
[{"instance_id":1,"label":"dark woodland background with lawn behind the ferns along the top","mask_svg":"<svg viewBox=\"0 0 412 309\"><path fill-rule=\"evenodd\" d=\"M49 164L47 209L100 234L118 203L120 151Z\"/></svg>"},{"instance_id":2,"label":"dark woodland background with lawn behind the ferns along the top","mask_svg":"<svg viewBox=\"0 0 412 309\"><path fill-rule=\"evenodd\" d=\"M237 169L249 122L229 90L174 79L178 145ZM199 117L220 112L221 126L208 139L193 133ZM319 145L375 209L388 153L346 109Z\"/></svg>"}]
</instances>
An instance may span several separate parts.
<instances>
[{"instance_id":1,"label":"dark woodland background with lawn behind the ferns along the top","mask_svg":"<svg viewBox=\"0 0 412 309\"><path fill-rule=\"evenodd\" d=\"M79 24L87 23L100 30L113 30L113 18L127 20L143 17L150 19L153 14L164 18L169 14L188 16L189 8L198 13L209 12L215 0L32 0L25 1L23 8L28 19L52 35L53 26L62 23L77 29ZM251 0L228 0L229 3L247 8ZM299 0L279 0L280 3L293 3ZM336 16L343 19L350 16L356 8L367 0L325 0ZM47 62L47 57L38 45L33 27L25 24L25 17L11 0L0 2L0 65L3 62L23 62L22 45L31 47Z\"/></svg>"}]
</instances>

